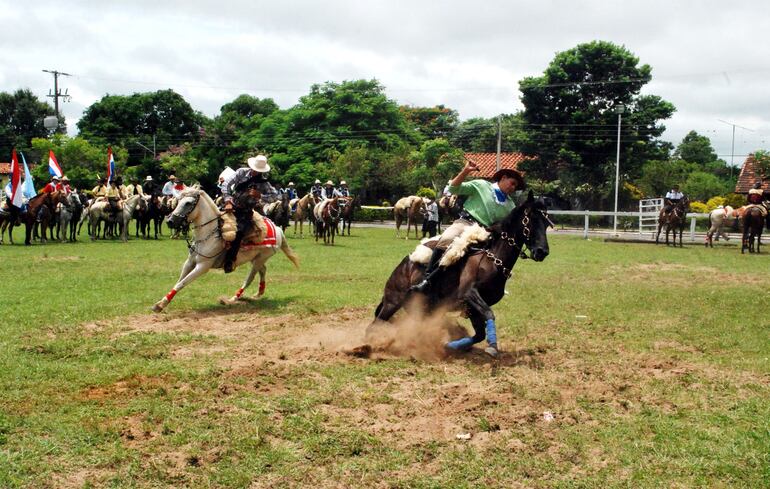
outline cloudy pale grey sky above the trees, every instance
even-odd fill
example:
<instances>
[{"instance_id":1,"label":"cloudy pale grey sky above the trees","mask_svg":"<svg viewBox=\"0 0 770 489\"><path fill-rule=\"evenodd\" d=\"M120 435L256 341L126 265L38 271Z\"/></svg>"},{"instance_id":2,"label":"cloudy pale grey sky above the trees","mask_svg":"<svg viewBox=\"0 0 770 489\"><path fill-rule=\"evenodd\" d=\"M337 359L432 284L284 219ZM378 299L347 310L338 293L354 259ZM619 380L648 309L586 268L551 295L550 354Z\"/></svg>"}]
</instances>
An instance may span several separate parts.
<instances>
[{"instance_id":1,"label":"cloudy pale grey sky above the trees","mask_svg":"<svg viewBox=\"0 0 770 489\"><path fill-rule=\"evenodd\" d=\"M107 5L109 4L109 5ZM462 119L521 109L518 81L595 39L653 68L645 93L677 107L736 164L770 148L770 7L764 1L0 0L0 91L60 86L71 132L109 94L172 88L213 116L241 93L296 103L313 83L377 78L402 104ZM750 129L751 131L749 131Z\"/></svg>"}]
</instances>

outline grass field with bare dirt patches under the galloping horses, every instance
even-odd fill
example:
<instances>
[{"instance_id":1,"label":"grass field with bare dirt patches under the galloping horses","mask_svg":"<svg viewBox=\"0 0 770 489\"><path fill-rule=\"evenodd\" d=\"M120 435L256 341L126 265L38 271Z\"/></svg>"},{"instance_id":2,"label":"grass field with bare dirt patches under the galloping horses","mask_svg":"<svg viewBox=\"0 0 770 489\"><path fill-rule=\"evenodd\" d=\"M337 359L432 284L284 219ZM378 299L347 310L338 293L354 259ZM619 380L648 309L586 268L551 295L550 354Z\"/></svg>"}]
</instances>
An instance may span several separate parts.
<instances>
[{"instance_id":1,"label":"grass field with bare dirt patches under the galloping horses","mask_svg":"<svg viewBox=\"0 0 770 489\"><path fill-rule=\"evenodd\" d=\"M214 272L162 315L183 242L0 247L0 487L770 485L770 255L553 235L498 363L408 322L361 359L414 241L354 234L291 240L259 301L219 305L245 271Z\"/></svg>"}]
</instances>

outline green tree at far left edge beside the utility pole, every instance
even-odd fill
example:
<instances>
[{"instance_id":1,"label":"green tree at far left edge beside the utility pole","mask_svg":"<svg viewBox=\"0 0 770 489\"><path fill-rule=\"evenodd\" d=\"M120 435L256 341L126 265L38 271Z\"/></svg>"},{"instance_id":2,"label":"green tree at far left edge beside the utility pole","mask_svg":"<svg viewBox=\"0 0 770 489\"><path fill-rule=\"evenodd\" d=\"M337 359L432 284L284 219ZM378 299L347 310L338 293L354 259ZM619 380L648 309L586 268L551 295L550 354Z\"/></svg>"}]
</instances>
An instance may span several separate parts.
<instances>
[{"instance_id":1,"label":"green tree at far left edge beside the utility pole","mask_svg":"<svg viewBox=\"0 0 770 489\"><path fill-rule=\"evenodd\" d=\"M54 115L53 107L27 89L0 93L0 160L10 161L13 148L28 150L33 138L46 137L43 119L49 115Z\"/></svg>"}]
</instances>

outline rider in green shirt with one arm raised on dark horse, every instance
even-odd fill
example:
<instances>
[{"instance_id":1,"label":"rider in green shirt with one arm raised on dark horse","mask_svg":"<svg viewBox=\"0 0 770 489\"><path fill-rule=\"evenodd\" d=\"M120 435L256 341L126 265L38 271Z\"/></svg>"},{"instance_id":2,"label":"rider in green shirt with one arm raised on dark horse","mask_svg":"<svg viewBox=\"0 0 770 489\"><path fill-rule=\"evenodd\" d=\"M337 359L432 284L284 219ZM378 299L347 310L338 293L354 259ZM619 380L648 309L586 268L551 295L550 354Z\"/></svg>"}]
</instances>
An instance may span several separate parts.
<instances>
[{"instance_id":1,"label":"rider in green shirt with one arm raised on dark horse","mask_svg":"<svg viewBox=\"0 0 770 489\"><path fill-rule=\"evenodd\" d=\"M492 182L480 178L469 182L464 181L470 172L478 171L478 169L479 167L475 163L467 160L465 167L451 181L449 191L452 194L467 196L463 210L460 213L460 218L441 234L436 247L433 248L433 254L422 282L413 285L411 290L426 292L430 289L431 280L441 269L439 267L441 257L452 244L452 241L465 231L465 228L474 223L489 227L504 219L516 207L511 196L513 192L523 190L526 186L521 173L503 168L494 174Z\"/></svg>"}]
</instances>

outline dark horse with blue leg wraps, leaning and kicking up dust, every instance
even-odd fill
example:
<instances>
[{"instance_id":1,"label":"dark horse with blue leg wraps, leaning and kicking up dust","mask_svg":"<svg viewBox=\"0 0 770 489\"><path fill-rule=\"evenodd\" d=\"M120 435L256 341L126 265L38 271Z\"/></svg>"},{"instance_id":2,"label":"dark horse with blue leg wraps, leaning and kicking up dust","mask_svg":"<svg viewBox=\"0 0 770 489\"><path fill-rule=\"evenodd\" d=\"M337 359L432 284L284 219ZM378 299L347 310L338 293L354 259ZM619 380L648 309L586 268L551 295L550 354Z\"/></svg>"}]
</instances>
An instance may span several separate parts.
<instances>
[{"instance_id":1,"label":"dark horse with blue leg wraps, leaning and kicking up dust","mask_svg":"<svg viewBox=\"0 0 770 489\"><path fill-rule=\"evenodd\" d=\"M465 309L475 333L472 337L448 343L447 348L466 351L486 337L489 348L485 351L497 356L497 329L492 306L503 298L505 283L525 247L529 248L535 261L543 261L548 256L548 226L553 223L545 204L535 200L530 192L523 204L489 228L491 237L484 249L471 248L465 257L439 272L427 294L429 311ZM425 265L414 263L409 257L401 261L385 284L372 325L389 321L406 306L408 299L416 294L410 287L422 280L424 272Z\"/></svg>"}]
</instances>

